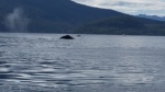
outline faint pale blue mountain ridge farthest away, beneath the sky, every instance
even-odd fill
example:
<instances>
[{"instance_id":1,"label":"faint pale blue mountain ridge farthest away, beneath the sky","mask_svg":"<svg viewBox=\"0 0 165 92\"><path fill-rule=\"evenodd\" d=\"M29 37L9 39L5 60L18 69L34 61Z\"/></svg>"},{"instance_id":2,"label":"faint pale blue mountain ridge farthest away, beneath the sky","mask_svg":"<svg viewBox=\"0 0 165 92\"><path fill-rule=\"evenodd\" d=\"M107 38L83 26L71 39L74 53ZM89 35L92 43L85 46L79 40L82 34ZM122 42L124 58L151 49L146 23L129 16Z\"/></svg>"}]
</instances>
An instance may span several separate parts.
<instances>
[{"instance_id":1,"label":"faint pale blue mountain ridge farthest away, beneath the sky","mask_svg":"<svg viewBox=\"0 0 165 92\"><path fill-rule=\"evenodd\" d=\"M145 19L151 19L151 20L157 20L157 21L165 21L165 16L146 15L146 14L139 14L136 16L139 16L139 18L145 18Z\"/></svg>"}]
</instances>

